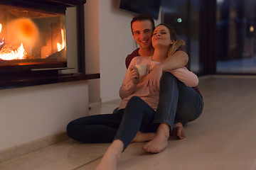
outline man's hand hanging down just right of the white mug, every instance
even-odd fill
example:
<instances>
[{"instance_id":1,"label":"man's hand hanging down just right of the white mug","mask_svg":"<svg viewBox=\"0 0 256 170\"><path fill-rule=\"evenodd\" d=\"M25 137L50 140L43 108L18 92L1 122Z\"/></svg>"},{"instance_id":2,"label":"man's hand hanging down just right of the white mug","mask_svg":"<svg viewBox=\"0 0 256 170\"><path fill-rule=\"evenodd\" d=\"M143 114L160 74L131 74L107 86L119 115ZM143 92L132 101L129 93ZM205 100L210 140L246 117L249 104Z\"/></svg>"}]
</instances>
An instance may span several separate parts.
<instances>
[{"instance_id":1,"label":"man's hand hanging down just right of the white mug","mask_svg":"<svg viewBox=\"0 0 256 170\"><path fill-rule=\"evenodd\" d=\"M144 84L144 91L149 88L149 92L152 93L160 89L160 79L163 74L163 67L161 64L156 64L154 68L147 75L146 83Z\"/></svg>"}]
</instances>

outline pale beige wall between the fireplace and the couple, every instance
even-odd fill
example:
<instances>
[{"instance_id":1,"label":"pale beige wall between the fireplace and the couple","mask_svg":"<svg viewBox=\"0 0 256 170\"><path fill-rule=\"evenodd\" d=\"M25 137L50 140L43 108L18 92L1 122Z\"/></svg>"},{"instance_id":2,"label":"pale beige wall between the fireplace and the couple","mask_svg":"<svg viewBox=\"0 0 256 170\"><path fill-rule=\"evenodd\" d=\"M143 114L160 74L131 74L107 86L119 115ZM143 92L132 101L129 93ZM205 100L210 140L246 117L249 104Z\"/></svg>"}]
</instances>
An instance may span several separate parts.
<instances>
[{"instance_id":1,"label":"pale beige wall between the fireplace and the couple","mask_svg":"<svg viewBox=\"0 0 256 170\"><path fill-rule=\"evenodd\" d=\"M100 72L100 80L89 81L90 101L117 99L126 72L125 58L137 48L130 28L134 14L119 10L119 0L88 0L85 17L85 55L94 60L86 70ZM160 21L161 17L156 24Z\"/></svg>"}]
</instances>

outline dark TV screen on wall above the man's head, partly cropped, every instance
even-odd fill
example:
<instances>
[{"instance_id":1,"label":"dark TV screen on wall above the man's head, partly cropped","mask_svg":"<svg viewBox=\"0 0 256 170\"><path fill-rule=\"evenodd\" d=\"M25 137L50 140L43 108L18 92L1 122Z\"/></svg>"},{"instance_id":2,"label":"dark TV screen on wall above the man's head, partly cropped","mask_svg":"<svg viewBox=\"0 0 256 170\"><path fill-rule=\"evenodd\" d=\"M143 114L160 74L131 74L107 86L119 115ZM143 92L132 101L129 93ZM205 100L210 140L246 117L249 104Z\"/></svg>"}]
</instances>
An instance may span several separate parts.
<instances>
[{"instance_id":1,"label":"dark TV screen on wall above the man's head, partly cropped","mask_svg":"<svg viewBox=\"0 0 256 170\"><path fill-rule=\"evenodd\" d=\"M119 8L132 13L150 13L154 19L159 17L161 0L120 0Z\"/></svg>"}]
</instances>

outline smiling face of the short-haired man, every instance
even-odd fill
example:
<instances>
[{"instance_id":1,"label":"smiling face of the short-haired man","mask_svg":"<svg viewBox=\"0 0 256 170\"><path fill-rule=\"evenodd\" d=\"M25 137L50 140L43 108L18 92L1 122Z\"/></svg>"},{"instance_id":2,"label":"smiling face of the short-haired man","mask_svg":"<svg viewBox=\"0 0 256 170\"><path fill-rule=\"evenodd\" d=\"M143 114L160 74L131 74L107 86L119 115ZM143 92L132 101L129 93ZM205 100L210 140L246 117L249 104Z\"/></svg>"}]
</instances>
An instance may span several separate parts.
<instances>
[{"instance_id":1,"label":"smiling face of the short-haired man","mask_svg":"<svg viewBox=\"0 0 256 170\"><path fill-rule=\"evenodd\" d=\"M147 49L151 47L153 30L150 21L134 21L132 24L132 33L134 40L140 48Z\"/></svg>"}]
</instances>

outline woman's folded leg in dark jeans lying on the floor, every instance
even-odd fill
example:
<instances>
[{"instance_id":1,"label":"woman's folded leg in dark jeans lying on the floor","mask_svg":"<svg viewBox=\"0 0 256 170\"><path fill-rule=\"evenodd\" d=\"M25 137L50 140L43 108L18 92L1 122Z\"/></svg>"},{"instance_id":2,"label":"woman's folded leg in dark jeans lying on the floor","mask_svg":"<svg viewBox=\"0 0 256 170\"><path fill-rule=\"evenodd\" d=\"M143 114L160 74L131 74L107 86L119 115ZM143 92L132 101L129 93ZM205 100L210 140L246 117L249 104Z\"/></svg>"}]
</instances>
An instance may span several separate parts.
<instances>
[{"instance_id":1,"label":"woman's folded leg in dark jeans lying on the floor","mask_svg":"<svg viewBox=\"0 0 256 170\"><path fill-rule=\"evenodd\" d=\"M124 109L115 114L90 115L68 123L67 134L73 140L90 143L112 142Z\"/></svg>"}]
</instances>

